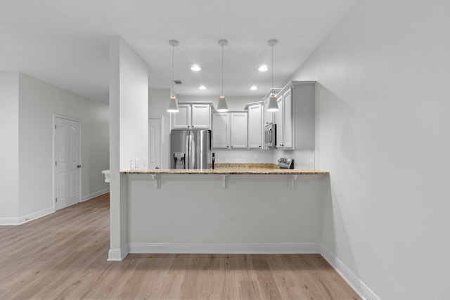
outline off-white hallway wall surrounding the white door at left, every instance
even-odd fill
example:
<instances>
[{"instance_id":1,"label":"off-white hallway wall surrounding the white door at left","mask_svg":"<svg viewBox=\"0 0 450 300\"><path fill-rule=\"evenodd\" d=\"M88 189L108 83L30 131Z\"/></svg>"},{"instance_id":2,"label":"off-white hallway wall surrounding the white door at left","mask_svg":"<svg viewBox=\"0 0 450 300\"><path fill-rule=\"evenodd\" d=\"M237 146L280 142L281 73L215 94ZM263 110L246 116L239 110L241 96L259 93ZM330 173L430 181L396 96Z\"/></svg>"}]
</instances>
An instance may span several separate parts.
<instances>
[{"instance_id":1,"label":"off-white hallway wall surrounding the white door at left","mask_svg":"<svg viewBox=\"0 0 450 300\"><path fill-rule=\"evenodd\" d=\"M20 214L53 207L53 114L81 122L82 197L108 190L108 106L19 75Z\"/></svg>"}]
</instances>

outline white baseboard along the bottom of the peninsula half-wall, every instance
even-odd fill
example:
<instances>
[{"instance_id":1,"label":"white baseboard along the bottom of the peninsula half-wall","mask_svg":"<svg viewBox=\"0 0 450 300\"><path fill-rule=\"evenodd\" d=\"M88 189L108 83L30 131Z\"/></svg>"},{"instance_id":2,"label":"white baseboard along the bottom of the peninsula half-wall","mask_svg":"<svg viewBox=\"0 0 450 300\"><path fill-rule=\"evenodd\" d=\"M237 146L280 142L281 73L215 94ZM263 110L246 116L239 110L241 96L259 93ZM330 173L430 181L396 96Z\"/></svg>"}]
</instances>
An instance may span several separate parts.
<instances>
[{"instance_id":1,"label":"white baseboard along the bottom of the peninsula half-wall","mask_svg":"<svg viewBox=\"0 0 450 300\"><path fill-rule=\"evenodd\" d=\"M319 243L129 243L129 253L311 254Z\"/></svg>"}]
</instances>

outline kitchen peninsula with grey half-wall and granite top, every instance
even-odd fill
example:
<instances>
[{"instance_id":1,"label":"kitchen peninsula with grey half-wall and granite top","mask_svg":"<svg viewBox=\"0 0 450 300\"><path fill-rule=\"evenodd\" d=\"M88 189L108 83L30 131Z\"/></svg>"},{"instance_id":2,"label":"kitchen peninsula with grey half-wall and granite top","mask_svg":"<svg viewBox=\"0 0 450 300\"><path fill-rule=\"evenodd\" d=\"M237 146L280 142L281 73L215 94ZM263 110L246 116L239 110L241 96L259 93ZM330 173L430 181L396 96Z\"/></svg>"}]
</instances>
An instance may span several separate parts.
<instances>
[{"instance_id":1,"label":"kitchen peninsula with grey half-wall and granite top","mask_svg":"<svg viewBox=\"0 0 450 300\"><path fill-rule=\"evenodd\" d=\"M110 260L127 253L319 253L328 172L276 167L121 171L127 244L121 254L110 250Z\"/></svg>"}]
</instances>

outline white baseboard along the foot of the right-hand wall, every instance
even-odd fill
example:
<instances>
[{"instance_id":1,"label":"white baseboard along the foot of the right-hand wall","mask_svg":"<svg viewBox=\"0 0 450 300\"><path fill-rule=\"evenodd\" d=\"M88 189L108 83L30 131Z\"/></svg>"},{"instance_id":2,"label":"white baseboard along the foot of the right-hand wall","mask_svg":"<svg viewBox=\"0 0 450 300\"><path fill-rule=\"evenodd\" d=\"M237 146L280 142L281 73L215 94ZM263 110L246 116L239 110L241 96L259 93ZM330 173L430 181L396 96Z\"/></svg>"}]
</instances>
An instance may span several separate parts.
<instances>
[{"instance_id":1,"label":"white baseboard along the foot of the right-hand wall","mask_svg":"<svg viewBox=\"0 0 450 300\"><path fill-rule=\"evenodd\" d=\"M335 256L330 250L321 244L321 255L328 263L344 278L345 281L354 289L356 293L365 300L381 300L358 276L356 276L352 270L350 270L345 263L342 263L338 257Z\"/></svg>"}]
</instances>

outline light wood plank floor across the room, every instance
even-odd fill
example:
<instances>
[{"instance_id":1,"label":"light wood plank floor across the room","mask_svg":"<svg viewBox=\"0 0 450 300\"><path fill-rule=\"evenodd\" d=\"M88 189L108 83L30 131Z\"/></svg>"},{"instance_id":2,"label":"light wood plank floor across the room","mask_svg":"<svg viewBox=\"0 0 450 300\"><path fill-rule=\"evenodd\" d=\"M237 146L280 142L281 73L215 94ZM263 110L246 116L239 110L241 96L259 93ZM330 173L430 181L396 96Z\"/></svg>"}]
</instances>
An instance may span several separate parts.
<instances>
[{"instance_id":1,"label":"light wood plank floor across the room","mask_svg":"<svg viewBox=\"0 0 450 300\"><path fill-rule=\"evenodd\" d=\"M0 226L0 299L361 299L320 254L106 261L109 195Z\"/></svg>"}]
</instances>

